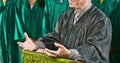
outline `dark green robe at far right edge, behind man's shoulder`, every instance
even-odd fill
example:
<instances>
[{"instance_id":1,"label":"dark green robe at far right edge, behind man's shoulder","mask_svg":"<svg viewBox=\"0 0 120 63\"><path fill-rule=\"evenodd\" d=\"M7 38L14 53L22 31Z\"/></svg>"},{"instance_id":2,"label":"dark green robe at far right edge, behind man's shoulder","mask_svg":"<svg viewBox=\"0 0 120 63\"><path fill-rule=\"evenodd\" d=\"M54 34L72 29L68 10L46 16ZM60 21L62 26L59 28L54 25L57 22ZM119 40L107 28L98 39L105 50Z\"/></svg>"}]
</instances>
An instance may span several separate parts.
<instances>
[{"instance_id":1,"label":"dark green robe at far right edge, behind man's shoulder","mask_svg":"<svg viewBox=\"0 0 120 63\"><path fill-rule=\"evenodd\" d=\"M111 63L120 63L120 0L116 0L116 7L110 18L113 26Z\"/></svg>"}]
</instances>

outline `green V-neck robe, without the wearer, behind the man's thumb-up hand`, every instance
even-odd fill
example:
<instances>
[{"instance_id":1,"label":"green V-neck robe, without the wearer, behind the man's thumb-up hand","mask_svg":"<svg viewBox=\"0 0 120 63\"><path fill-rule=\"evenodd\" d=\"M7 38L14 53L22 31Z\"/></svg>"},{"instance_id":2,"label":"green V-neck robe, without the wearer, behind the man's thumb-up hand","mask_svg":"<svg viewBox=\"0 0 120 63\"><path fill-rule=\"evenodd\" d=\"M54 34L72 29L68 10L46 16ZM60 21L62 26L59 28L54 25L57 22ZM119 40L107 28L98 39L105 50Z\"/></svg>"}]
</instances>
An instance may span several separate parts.
<instances>
[{"instance_id":1,"label":"green V-neck robe, without the wearer, behind the man's thumb-up hand","mask_svg":"<svg viewBox=\"0 0 120 63\"><path fill-rule=\"evenodd\" d=\"M16 13L16 28L15 40L24 39L24 32L27 32L29 37L38 39L42 34L42 18L43 11L39 7L38 0L36 0L31 9L29 0L23 0L18 6Z\"/></svg>"}]
</instances>

